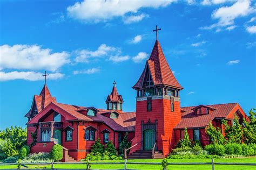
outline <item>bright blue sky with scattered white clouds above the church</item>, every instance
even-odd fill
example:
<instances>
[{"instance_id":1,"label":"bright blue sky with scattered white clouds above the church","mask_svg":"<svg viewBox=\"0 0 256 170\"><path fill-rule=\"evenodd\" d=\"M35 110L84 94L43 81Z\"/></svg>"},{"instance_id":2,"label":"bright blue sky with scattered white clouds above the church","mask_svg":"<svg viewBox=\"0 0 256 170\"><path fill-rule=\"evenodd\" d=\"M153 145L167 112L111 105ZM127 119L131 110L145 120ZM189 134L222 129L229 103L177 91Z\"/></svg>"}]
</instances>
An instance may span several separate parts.
<instances>
[{"instance_id":1,"label":"bright blue sky with scattered white clouds above the church","mask_svg":"<svg viewBox=\"0 0 256 170\"><path fill-rule=\"evenodd\" d=\"M0 130L25 127L33 95L106 108L113 81L124 111L156 33L184 89L181 107L238 102L256 108L256 2L0 1Z\"/></svg>"}]
</instances>

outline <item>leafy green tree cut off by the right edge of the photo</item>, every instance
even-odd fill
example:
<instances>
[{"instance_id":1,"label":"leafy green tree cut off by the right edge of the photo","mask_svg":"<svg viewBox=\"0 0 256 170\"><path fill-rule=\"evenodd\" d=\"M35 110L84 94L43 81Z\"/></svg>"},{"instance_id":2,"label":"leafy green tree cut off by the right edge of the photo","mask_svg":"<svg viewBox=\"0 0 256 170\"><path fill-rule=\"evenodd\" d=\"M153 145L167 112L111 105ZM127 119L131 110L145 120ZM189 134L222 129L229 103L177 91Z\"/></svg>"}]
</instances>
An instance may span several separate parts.
<instances>
[{"instance_id":1,"label":"leafy green tree cut off by the right edge of the photo","mask_svg":"<svg viewBox=\"0 0 256 170\"><path fill-rule=\"evenodd\" d=\"M249 111L250 122L243 118L244 126L242 127L243 136L242 140L245 144L256 144L256 109L252 108Z\"/></svg>"}]
</instances>

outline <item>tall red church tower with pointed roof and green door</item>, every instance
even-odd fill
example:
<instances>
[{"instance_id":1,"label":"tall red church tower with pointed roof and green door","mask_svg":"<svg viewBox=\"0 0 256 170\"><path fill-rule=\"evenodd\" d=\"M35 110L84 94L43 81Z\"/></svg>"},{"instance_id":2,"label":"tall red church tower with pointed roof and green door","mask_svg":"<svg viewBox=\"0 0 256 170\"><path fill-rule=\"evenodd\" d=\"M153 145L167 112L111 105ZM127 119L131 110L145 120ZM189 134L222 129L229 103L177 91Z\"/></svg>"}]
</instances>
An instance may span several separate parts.
<instances>
[{"instance_id":1,"label":"tall red church tower with pointed roof and green door","mask_svg":"<svg viewBox=\"0 0 256 170\"><path fill-rule=\"evenodd\" d=\"M158 39L132 88L137 91L136 150L151 150L155 146L166 156L177 143L173 128L181 121L179 91L183 87L174 77Z\"/></svg>"}]
</instances>

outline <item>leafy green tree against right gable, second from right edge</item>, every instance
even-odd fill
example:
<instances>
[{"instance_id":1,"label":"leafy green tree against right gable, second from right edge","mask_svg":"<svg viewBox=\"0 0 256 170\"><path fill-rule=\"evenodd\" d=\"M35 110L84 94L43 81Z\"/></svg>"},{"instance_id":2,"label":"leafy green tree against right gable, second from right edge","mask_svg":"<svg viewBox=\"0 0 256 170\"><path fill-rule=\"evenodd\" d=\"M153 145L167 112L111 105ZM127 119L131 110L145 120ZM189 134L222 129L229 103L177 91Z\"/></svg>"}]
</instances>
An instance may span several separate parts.
<instances>
[{"instance_id":1,"label":"leafy green tree against right gable, second from right edge","mask_svg":"<svg viewBox=\"0 0 256 170\"><path fill-rule=\"evenodd\" d=\"M229 125L226 120L222 119L224 125L225 138L229 143L241 144L242 141L242 125L239 118L234 114L233 125Z\"/></svg>"}]
</instances>

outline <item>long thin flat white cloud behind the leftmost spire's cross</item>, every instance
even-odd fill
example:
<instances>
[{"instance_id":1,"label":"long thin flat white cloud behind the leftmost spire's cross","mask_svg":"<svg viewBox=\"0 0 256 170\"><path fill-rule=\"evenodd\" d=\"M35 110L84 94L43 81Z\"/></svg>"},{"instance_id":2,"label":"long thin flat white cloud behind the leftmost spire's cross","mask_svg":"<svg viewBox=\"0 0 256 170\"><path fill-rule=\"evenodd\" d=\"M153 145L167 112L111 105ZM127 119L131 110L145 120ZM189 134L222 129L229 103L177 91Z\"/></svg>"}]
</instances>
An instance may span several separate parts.
<instances>
[{"instance_id":1,"label":"long thin flat white cloud behind the leftmost spire's cross","mask_svg":"<svg viewBox=\"0 0 256 170\"><path fill-rule=\"evenodd\" d=\"M29 81L38 81L38 80L44 80L44 77L42 76L44 73L38 73L38 72L0 72L0 81L10 81L10 80L29 80ZM64 76L62 73L52 73L49 74L47 79L56 80L61 79Z\"/></svg>"}]
</instances>

